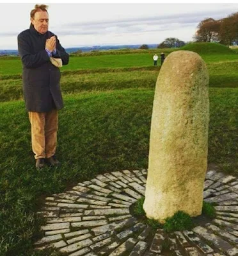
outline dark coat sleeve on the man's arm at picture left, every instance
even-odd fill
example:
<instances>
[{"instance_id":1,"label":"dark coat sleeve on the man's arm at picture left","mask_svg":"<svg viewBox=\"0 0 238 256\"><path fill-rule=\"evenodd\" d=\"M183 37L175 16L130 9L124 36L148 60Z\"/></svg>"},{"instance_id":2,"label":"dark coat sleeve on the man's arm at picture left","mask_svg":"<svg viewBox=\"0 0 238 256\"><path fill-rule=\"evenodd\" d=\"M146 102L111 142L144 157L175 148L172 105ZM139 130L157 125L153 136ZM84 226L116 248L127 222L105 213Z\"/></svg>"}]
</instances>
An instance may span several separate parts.
<instances>
[{"instance_id":1,"label":"dark coat sleeve on the man's arm at picture left","mask_svg":"<svg viewBox=\"0 0 238 256\"><path fill-rule=\"evenodd\" d=\"M45 62L49 62L49 56L45 49L36 54L31 54L31 46L26 36L19 34L17 37L17 43L19 55L22 58L22 63L25 67L40 67L45 64Z\"/></svg>"}]
</instances>

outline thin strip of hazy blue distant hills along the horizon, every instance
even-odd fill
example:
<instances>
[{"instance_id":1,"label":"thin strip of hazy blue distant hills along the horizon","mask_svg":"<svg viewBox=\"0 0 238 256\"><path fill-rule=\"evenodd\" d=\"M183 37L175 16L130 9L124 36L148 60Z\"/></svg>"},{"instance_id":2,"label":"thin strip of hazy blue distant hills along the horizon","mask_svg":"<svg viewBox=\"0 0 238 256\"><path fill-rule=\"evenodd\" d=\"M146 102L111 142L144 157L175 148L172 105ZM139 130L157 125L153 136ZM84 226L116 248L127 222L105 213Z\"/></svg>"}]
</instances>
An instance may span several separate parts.
<instances>
[{"instance_id":1,"label":"thin strip of hazy blue distant hills along the horizon","mask_svg":"<svg viewBox=\"0 0 238 256\"><path fill-rule=\"evenodd\" d=\"M123 46L89 46L89 47L71 47L71 48L65 48L65 51L67 53L74 53L75 51L106 51L106 50L113 50L113 49L138 49L141 44L134 44L134 45L123 45ZM157 44L148 44L149 48L156 48ZM17 50L1 50L0 49L0 56L1 55L18 55Z\"/></svg>"}]
</instances>

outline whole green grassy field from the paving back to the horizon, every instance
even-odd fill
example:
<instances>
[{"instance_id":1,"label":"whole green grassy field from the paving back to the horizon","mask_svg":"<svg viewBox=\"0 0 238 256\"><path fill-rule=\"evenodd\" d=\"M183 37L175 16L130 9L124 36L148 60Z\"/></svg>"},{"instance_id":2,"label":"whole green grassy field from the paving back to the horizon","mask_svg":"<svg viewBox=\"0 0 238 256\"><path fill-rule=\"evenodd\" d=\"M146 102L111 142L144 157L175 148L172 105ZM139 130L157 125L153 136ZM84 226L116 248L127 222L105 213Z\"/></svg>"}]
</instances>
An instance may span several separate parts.
<instances>
[{"instance_id":1,"label":"whole green grassy field from the paving back to the horizon","mask_svg":"<svg viewBox=\"0 0 238 256\"><path fill-rule=\"evenodd\" d=\"M147 54L136 56L143 58ZM42 171L35 170L24 102L11 101L22 96L21 80L11 67L8 67L11 72L7 74L6 67L1 65L10 60L0 60L4 75L8 75L0 80L0 100L6 101L0 103L0 255L59 255L58 252L33 251L33 243L40 237L39 227L43 223L36 211L44 196L63 192L99 173L147 168L154 87L159 67L143 63L136 69L132 64L136 59L133 55L130 54L131 58L129 54L115 55L114 68L104 67L106 64L102 61L102 64L97 64L99 68L91 64L91 69L78 71L72 68L63 74L61 86L65 108L59 112L57 151L62 166L57 169L46 167ZM216 60L218 55L209 53L203 58ZM105 56L94 57L106 61ZM118 56L122 62L116 61ZM237 57L235 54L225 56ZM95 58L75 56L71 60L75 59L79 64L80 60L89 62ZM208 160L218 165L221 171L238 176L235 161L238 60L232 58L207 62L210 73ZM124 63L127 60L131 66Z\"/></svg>"}]
</instances>

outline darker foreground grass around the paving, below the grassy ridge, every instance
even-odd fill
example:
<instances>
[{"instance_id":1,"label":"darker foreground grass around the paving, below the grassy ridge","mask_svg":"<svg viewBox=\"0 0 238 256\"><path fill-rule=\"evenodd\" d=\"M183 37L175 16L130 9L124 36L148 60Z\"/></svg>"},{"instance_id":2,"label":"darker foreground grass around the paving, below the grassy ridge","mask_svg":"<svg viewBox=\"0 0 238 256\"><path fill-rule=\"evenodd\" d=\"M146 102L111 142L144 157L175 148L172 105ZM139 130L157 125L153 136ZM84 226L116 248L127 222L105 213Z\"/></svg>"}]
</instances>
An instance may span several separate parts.
<instances>
[{"instance_id":1,"label":"darker foreground grass around the paving, below the grassy ridge","mask_svg":"<svg viewBox=\"0 0 238 256\"><path fill-rule=\"evenodd\" d=\"M237 89L210 89L209 162L237 176ZM0 255L57 255L33 252L42 219L38 199L99 173L142 169L154 90L127 89L65 96L59 112L58 169L35 170L30 126L23 101L1 103Z\"/></svg>"}]
</instances>

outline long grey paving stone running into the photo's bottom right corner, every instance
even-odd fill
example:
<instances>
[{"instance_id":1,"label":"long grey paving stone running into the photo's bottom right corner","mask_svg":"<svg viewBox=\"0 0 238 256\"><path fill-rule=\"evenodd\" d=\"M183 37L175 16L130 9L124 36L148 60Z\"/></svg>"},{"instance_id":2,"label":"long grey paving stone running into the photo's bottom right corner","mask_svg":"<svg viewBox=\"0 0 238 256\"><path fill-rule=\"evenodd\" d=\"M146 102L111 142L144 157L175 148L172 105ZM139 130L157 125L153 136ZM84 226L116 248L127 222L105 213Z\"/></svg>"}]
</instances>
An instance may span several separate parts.
<instances>
[{"instance_id":1,"label":"long grey paving stone running into the photo's bottom right corner","mask_svg":"<svg viewBox=\"0 0 238 256\"><path fill-rule=\"evenodd\" d=\"M221 237L218 237L218 235L212 234L212 232L210 232L206 228L203 228L202 226L196 226L193 231L201 235L205 240L212 242L214 246L216 246L216 248L218 248L219 250L226 252L228 255L235 255L234 247L231 244L221 239Z\"/></svg>"}]
</instances>

